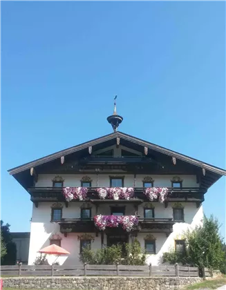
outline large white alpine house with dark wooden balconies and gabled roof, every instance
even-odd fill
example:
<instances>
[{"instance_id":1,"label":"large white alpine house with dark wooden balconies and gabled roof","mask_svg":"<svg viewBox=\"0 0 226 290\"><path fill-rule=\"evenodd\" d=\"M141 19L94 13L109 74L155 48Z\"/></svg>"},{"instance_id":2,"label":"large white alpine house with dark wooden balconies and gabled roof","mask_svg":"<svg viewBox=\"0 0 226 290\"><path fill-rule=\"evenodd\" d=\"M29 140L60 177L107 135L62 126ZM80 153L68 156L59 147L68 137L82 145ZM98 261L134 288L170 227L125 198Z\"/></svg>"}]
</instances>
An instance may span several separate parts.
<instances>
[{"instance_id":1,"label":"large white alpine house with dark wooden balconies and gabled roof","mask_svg":"<svg viewBox=\"0 0 226 290\"><path fill-rule=\"evenodd\" d=\"M108 118L114 133L9 171L32 202L28 264L49 244L70 252L58 260L69 266L87 245L137 238L147 263L158 265L202 223L205 194L225 171L117 132L119 117Z\"/></svg>"}]
</instances>

